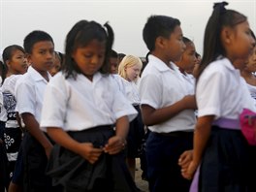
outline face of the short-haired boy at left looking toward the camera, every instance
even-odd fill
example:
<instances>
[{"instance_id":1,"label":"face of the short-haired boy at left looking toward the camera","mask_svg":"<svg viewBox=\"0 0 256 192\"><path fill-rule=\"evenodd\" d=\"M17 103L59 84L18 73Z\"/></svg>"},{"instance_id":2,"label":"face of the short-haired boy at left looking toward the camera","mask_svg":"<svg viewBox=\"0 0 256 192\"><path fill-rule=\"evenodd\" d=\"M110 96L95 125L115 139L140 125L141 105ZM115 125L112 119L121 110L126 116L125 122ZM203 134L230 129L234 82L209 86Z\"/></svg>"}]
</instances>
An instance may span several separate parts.
<instances>
[{"instance_id":1,"label":"face of the short-haired boy at left looking toward the camera","mask_svg":"<svg viewBox=\"0 0 256 192\"><path fill-rule=\"evenodd\" d=\"M34 44L32 52L27 57L29 63L38 72L48 71L54 61L54 45L50 41L42 41Z\"/></svg>"}]
</instances>

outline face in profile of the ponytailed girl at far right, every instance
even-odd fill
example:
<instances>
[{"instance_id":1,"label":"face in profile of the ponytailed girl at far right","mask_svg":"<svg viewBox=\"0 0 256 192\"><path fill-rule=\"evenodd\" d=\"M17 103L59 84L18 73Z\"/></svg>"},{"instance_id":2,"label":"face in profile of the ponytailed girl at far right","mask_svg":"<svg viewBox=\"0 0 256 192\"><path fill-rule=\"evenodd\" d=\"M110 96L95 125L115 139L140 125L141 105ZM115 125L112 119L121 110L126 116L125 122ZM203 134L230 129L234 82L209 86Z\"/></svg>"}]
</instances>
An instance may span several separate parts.
<instances>
[{"instance_id":1,"label":"face in profile of the ponytailed girl at far right","mask_svg":"<svg viewBox=\"0 0 256 192\"><path fill-rule=\"evenodd\" d=\"M230 52L231 58L234 60L247 60L252 52L255 41L251 36L250 26L247 21L241 22L236 26L230 36Z\"/></svg>"}]
</instances>

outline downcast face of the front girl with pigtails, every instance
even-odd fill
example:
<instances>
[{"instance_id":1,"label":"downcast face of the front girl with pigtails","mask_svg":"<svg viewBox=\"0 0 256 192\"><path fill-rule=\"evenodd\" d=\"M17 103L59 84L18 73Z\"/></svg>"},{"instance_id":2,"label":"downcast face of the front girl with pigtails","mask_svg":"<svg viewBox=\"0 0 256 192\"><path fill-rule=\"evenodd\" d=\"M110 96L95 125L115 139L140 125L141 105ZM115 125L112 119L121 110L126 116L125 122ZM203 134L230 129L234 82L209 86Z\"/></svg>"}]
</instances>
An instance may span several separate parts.
<instances>
[{"instance_id":1,"label":"downcast face of the front girl with pigtails","mask_svg":"<svg viewBox=\"0 0 256 192\"><path fill-rule=\"evenodd\" d=\"M105 59L106 42L92 40L87 46L77 48L72 57L76 61L80 72L89 80L102 67Z\"/></svg>"}]
</instances>

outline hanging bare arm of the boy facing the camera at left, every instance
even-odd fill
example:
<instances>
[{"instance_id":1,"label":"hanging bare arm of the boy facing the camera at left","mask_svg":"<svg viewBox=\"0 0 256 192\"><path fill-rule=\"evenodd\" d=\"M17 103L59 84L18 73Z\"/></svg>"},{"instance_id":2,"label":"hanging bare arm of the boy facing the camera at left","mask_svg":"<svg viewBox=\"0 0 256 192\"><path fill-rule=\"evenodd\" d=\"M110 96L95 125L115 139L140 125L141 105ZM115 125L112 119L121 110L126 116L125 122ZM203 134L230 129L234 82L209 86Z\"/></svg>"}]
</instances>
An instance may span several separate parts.
<instances>
[{"instance_id":1,"label":"hanging bare arm of the boy facing the camera at left","mask_svg":"<svg viewBox=\"0 0 256 192\"><path fill-rule=\"evenodd\" d=\"M45 148L46 154L49 157L52 144L50 144L48 138L40 130L39 123L36 120L35 116L29 112L24 112L21 114L21 116L24 121L26 129Z\"/></svg>"}]
</instances>

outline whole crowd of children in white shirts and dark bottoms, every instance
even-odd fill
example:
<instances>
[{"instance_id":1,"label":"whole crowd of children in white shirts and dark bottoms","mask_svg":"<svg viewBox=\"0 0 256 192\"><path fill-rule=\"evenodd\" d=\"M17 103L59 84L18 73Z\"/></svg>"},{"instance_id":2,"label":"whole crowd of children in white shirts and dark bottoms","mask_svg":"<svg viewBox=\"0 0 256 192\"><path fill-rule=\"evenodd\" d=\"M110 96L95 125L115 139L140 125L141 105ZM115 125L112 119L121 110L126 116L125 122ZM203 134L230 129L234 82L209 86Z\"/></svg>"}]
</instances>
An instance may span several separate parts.
<instances>
[{"instance_id":1,"label":"whole crowd of children in white shirts and dark bottoms","mask_svg":"<svg viewBox=\"0 0 256 192\"><path fill-rule=\"evenodd\" d=\"M29 33L0 63L0 192L254 192L256 40L246 16L215 3L204 53L180 21L149 16L141 58L112 49L109 23L80 20L65 53Z\"/></svg>"}]
</instances>

